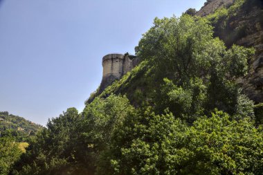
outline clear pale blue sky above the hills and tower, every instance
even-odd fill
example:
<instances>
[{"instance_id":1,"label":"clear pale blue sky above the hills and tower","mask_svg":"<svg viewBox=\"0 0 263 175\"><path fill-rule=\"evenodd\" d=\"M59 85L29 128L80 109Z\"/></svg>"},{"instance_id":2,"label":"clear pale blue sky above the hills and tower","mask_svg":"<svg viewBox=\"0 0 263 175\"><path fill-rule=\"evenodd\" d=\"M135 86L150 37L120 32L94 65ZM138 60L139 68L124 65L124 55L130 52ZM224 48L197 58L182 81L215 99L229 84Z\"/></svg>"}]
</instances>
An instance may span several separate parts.
<instances>
[{"instance_id":1,"label":"clear pale blue sky above the hills and tower","mask_svg":"<svg viewBox=\"0 0 263 175\"><path fill-rule=\"evenodd\" d=\"M0 0L0 111L41 125L79 111L102 78L102 57L134 53L154 17L206 0Z\"/></svg>"}]
</instances>

